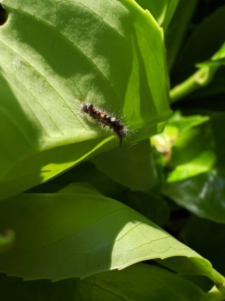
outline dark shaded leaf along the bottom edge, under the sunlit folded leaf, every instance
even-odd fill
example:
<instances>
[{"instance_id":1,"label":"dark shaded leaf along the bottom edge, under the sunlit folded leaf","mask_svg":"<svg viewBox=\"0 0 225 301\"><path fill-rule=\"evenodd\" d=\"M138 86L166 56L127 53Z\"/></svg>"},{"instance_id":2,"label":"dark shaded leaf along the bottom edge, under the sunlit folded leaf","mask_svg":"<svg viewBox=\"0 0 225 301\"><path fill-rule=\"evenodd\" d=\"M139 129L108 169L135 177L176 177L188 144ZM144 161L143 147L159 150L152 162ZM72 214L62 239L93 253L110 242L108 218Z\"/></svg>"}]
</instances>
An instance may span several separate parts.
<instances>
[{"instance_id":1,"label":"dark shaded leaf along the bottom edge, under the sunlit folded leaf","mask_svg":"<svg viewBox=\"0 0 225 301\"><path fill-rule=\"evenodd\" d=\"M0 297L9 300L223 300L223 295L205 293L196 284L162 268L137 263L122 271L102 272L84 280L22 281L0 275ZM12 299L10 299L10 297ZM14 299L13 299L14 298Z\"/></svg>"}]
</instances>

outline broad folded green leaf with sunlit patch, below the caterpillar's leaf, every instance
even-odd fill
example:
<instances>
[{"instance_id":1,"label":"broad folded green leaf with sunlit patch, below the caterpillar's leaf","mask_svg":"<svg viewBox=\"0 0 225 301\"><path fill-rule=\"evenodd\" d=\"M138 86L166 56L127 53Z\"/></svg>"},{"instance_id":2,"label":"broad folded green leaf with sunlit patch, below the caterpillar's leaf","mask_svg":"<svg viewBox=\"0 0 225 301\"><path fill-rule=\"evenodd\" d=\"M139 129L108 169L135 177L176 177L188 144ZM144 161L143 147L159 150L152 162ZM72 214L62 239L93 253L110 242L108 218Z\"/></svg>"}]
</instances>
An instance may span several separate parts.
<instances>
[{"instance_id":1,"label":"broad folded green leaf with sunlit patch, below the caterpillar's leaf","mask_svg":"<svg viewBox=\"0 0 225 301\"><path fill-rule=\"evenodd\" d=\"M11 276L85 278L146 259L188 256L198 259L198 265L192 263L198 274L214 281L222 277L198 253L116 200L85 191L19 194L0 206L0 227L17 236L14 248L0 257L1 272Z\"/></svg>"}]
</instances>

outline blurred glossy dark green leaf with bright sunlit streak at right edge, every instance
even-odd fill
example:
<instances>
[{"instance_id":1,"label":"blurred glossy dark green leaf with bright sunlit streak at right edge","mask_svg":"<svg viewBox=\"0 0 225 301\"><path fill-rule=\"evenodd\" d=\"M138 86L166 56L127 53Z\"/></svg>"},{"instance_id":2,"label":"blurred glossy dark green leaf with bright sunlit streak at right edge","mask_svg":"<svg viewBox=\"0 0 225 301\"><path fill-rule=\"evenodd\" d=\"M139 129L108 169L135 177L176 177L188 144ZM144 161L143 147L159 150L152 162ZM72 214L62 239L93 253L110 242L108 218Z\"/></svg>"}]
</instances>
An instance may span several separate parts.
<instances>
[{"instance_id":1,"label":"blurred glossy dark green leaf with bright sunlit streak at right edge","mask_svg":"<svg viewBox=\"0 0 225 301\"><path fill-rule=\"evenodd\" d=\"M224 113L207 119L175 140L164 193L196 215L224 223Z\"/></svg>"}]
</instances>

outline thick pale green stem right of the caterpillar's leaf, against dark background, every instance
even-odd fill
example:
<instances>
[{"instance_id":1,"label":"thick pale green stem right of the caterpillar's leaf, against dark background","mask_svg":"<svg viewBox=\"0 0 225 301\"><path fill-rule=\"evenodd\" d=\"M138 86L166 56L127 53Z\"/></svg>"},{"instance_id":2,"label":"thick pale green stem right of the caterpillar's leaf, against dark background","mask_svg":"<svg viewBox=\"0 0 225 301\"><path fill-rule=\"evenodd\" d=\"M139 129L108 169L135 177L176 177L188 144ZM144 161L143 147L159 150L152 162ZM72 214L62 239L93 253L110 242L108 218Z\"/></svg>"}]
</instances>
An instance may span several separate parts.
<instances>
[{"instance_id":1,"label":"thick pale green stem right of the caterpillar's leaf, against dark background","mask_svg":"<svg viewBox=\"0 0 225 301\"><path fill-rule=\"evenodd\" d=\"M173 104L191 92L208 85L219 67L218 64L215 64L199 68L188 79L170 90L170 103Z\"/></svg>"}]
</instances>

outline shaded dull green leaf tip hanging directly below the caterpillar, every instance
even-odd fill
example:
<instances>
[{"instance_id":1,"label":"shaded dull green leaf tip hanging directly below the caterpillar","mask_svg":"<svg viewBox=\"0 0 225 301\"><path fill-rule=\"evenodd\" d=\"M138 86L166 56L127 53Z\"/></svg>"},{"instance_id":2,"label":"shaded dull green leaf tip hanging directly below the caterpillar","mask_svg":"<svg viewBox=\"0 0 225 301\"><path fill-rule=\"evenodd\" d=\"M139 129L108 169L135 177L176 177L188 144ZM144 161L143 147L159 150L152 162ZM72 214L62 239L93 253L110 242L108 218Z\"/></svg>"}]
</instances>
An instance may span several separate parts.
<instances>
[{"instance_id":1,"label":"shaded dull green leaf tip hanging directly below the caterpillar","mask_svg":"<svg viewBox=\"0 0 225 301\"><path fill-rule=\"evenodd\" d=\"M147 191L157 183L154 157L150 140L129 147L121 147L96 156L92 162L113 181L132 191ZM99 164L104 162L104 164ZM106 169L105 166L109 166Z\"/></svg>"}]
</instances>

